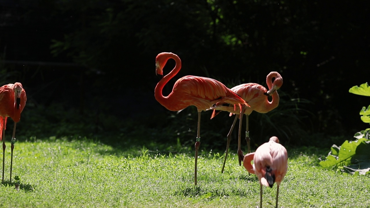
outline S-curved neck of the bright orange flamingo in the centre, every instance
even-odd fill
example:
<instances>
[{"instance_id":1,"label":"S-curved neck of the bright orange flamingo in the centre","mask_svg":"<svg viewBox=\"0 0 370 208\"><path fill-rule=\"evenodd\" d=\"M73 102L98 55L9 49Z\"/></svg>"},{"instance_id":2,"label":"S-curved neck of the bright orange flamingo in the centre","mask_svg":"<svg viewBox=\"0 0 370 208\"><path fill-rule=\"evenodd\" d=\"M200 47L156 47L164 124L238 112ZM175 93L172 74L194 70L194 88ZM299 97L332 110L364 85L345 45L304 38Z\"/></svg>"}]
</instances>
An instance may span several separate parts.
<instances>
[{"instance_id":1,"label":"S-curved neck of the bright orange flamingo in the centre","mask_svg":"<svg viewBox=\"0 0 370 208\"><path fill-rule=\"evenodd\" d=\"M164 85L166 85L168 83L168 81L172 77L174 77L181 69L181 60L178 56L176 56L175 54L172 54L172 53L163 54L163 56L165 56L165 58L163 59L164 61L162 63L160 63L161 65L166 64L167 60L172 58L172 59L175 60L176 66L172 69L172 71L170 73L168 73L166 76L164 76L158 82L157 86L155 86L154 96L155 96L155 99L157 99L157 101L161 104L163 102L165 102L166 98L168 98L168 96L164 97L163 94L162 94L162 90L163 90ZM164 66L162 66L162 67L164 67Z\"/></svg>"}]
</instances>

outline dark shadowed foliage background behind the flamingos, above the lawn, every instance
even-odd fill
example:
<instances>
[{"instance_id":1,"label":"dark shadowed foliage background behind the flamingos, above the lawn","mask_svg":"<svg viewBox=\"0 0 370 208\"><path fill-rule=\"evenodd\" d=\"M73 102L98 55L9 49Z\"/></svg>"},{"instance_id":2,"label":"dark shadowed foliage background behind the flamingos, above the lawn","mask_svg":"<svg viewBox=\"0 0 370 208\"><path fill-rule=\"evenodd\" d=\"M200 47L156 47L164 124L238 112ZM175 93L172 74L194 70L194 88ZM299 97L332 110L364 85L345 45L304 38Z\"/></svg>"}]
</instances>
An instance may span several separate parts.
<instances>
[{"instance_id":1,"label":"dark shadowed foliage background behind the flamingos, above the lawn","mask_svg":"<svg viewBox=\"0 0 370 208\"><path fill-rule=\"evenodd\" d=\"M27 92L20 140L192 147L195 107L176 114L154 98L161 52L182 60L165 95L185 75L230 88L267 87L270 71L282 75L279 107L250 115L255 147L272 135L286 145L339 145L368 127L359 111L369 98L348 92L369 81L367 1L0 0L0 12L1 85L19 81ZM202 145L223 149L233 118L210 115L202 113Z\"/></svg>"}]
</instances>

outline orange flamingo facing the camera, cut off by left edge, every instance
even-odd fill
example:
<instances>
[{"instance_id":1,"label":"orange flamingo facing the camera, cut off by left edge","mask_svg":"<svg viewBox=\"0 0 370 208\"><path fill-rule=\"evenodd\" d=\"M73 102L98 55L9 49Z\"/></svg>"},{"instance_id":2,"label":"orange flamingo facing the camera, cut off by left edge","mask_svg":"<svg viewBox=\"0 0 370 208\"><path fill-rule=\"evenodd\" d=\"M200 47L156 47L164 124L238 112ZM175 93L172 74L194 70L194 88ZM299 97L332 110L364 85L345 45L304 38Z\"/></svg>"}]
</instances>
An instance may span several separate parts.
<instances>
[{"instance_id":1,"label":"orange flamingo facing the camera, cut off by left edge","mask_svg":"<svg viewBox=\"0 0 370 208\"><path fill-rule=\"evenodd\" d=\"M24 105L26 105L26 91L24 91L22 84L16 82L14 84L6 84L0 87L0 141L3 140L3 179L4 182L4 162L5 162L5 129L6 121L8 117L13 119L13 137L11 138L11 160L10 160L10 182L11 182L11 170L13 168L13 149L14 138L16 134L16 124L19 122L21 112L23 111Z\"/></svg>"}]
</instances>

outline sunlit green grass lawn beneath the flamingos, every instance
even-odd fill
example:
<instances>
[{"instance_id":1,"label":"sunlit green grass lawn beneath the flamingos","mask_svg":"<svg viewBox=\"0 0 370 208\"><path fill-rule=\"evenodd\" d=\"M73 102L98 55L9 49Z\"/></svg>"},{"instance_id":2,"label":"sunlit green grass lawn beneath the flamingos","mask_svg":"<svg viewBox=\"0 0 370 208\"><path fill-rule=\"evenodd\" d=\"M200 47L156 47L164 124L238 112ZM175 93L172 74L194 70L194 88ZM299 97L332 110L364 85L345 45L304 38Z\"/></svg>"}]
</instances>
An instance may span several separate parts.
<instances>
[{"instance_id":1,"label":"sunlit green grass lawn beneath the flamingos","mask_svg":"<svg viewBox=\"0 0 370 208\"><path fill-rule=\"evenodd\" d=\"M202 150L194 186L192 152L161 155L139 147L116 148L88 140L16 142L9 183L10 143L0 207L256 207L259 183L230 154ZM369 176L324 170L324 151L287 148L289 167L279 207L369 207ZM235 153L235 150L231 150ZM0 154L2 155L2 154ZM263 207L275 207L276 185L263 187Z\"/></svg>"}]
</instances>

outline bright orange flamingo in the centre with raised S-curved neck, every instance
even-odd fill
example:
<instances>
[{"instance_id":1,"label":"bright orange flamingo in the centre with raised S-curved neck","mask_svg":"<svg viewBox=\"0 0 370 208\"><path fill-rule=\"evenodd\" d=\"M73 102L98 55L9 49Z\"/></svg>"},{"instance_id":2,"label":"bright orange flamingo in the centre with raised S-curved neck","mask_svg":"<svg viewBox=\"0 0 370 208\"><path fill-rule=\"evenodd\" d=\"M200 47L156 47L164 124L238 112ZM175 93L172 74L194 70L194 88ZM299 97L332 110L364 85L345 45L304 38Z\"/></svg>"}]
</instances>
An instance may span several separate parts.
<instances>
[{"instance_id":1,"label":"bright orange flamingo in the centre with raised S-curved neck","mask_svg":"<svg viewBox=\"0 0 370 208\"><path fill-rule=\"evenodd\" d=\"M162 95L162 89L168 81L174 77L181 69L181 60L174 53L159 53L156 58L156 74L163 76L163 67L167 61L172 58L176 61L176 66L172 71L164 76L157 84L154 90L155 99L164 107L170 111L179 111L190 105L195 105L198 110L198 132L195 142L195 168L194 168L194 181L196 180L196 168L198 161L198 149L200 145L200 124L201 124L201 112L212 107L217 102L226 102L234 105L239 105L240 111L245 106L249 105L236 93L227 88L221 82L207 78L197 76L185 76L179 78L172 92L168 96ZM240 136L240 135L239 135Z\"/></svg>"}]
</instances>

